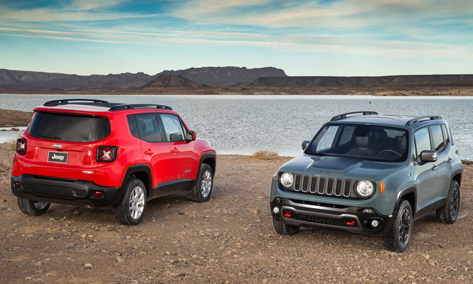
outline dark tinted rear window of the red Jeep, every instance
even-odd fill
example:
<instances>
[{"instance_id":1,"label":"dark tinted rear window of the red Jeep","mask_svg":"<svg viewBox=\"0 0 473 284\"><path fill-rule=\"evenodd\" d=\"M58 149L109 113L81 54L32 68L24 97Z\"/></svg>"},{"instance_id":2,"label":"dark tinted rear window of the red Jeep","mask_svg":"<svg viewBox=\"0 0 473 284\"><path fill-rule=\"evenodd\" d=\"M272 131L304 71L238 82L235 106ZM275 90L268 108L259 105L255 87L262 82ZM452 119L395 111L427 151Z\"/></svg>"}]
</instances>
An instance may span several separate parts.
<instances>
[{"instance_id":1,"label":"dark tinted rear window of the red Jeep","mask_svg":"<svg viewBox=\"0 0 473 284\"><path fill-rule=\"evenodd\" d=\"M110 135L110 121L100 116L79 116L37 111L28 133L36 138L92 142Z\"/></svg>"}]
</instances>

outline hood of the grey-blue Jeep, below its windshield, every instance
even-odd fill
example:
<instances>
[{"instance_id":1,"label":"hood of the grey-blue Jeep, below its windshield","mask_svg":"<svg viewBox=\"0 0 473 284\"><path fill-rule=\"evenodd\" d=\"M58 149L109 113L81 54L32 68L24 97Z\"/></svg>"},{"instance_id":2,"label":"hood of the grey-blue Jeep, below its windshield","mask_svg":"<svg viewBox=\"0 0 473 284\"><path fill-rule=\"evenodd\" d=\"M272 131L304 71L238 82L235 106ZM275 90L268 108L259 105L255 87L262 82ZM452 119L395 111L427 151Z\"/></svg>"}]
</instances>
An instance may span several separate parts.
<instances>
[{"instance_id":1,"label":"hood of the grey-blue Jeep, below its windshield","mask_svg":"<svg viewBox=\"0 0 473 284\"><path fill-rule=\"evenodd\" d=\"M401 163L303 154L282 165L280 171L351 180L376 180L400 167Z\"/></svg>"}]
</instances>

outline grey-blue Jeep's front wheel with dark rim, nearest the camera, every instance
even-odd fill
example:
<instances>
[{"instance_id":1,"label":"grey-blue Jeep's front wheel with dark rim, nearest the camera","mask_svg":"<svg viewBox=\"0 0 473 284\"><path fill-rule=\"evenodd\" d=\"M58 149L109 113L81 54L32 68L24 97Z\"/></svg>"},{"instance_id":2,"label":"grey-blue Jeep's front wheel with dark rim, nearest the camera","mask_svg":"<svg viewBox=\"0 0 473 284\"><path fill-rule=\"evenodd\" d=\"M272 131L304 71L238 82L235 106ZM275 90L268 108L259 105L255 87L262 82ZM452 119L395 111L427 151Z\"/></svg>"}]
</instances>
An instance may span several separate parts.
<instances>
[{"instance_id":1,"label":"grey-blue Jeep's front wheel with dark rim, nearest the camera","mask_svg":"<svg viewBox=\"0 0 473 284\"><path fill-rule=\"evenodd\" d=\"M388 251L402 253L409 246L410 234L413 229L413 210L407 200L402 200L393 226L385 236L384 244Z\"/></svg>"}]
</instances>

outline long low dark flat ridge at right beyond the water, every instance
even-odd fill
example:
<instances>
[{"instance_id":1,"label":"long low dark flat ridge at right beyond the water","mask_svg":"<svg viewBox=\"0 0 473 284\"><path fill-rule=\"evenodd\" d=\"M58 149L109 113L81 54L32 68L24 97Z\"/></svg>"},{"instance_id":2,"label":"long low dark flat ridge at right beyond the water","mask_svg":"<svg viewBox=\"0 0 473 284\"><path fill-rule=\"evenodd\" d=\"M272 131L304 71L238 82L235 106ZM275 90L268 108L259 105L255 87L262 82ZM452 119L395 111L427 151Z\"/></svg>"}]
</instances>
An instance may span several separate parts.
<instances>
[{"instance_id":1,"label":"long low dark flat ridge at right beyond the water","mask_svg":"<svg viewBox=\"0 0 473 284\"><path fill-rule=\"evenodd\" d=\"M248 87L373 87L383 85L473 86L473 75L265 77L258 78Z\"/></svg>"}]
</instances>

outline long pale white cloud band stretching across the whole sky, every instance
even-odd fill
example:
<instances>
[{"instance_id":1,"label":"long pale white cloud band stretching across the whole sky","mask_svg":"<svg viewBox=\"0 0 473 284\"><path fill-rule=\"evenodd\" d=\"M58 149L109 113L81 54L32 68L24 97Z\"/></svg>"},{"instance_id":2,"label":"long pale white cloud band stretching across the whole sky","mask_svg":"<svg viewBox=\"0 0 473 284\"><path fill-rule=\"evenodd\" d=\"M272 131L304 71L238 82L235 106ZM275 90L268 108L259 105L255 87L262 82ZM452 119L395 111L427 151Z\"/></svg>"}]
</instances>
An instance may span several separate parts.
<instances>
[{"instance_id":1,"label":"long pale white cloud band stretching across the whole sky","mask_svg":"<svg viewBox=\"0 0 473 284\"><path fill-rule=\"evenodd\" d=\"M47 31L34 29L0 28L9 35L48 38L67 41L144 45L144 46L246 46L272 48L304 53L330 53L343 55L381 56L388 58L449 57L473 58L468 45L415 43L401 40L366 40L331 35L273 35L255 37L245 33L217 33L207 31L169 31L144 33L111 30Z\"/></svg>"}]
</instances>

